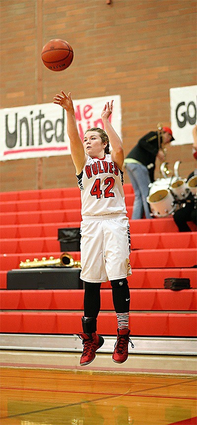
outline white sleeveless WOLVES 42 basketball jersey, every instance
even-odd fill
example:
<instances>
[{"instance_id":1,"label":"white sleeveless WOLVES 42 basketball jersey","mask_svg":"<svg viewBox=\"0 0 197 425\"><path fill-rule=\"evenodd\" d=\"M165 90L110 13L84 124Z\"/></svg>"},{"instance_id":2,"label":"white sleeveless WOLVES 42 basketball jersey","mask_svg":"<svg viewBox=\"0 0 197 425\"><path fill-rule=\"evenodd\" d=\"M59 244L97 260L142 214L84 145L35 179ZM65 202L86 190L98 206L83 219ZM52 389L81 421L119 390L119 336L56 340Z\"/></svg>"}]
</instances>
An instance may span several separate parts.
<instances>
[{"instance_id":1,"label":"white sleeveless WOLVES 42 basketball jersey","mask_svg":"<svg viewBox=\"0 0 197 425\"><path fill-rule=\"evenodd\" d=\"M88 156L83 170L77 175L81 190L81 215L126 214L123 171L111 159Z\"/></svg>"}]
</instances>

